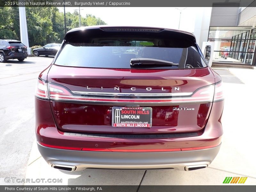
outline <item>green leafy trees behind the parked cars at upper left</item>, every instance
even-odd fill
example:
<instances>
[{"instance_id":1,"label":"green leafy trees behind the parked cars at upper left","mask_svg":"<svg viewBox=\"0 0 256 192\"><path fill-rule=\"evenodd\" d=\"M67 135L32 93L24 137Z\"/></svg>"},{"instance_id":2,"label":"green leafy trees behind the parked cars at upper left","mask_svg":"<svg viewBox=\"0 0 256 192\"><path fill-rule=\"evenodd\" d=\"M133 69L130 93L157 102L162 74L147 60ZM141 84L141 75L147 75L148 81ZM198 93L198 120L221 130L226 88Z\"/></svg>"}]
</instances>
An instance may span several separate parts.
<instances>
[{"instance_id":1,"label":"green leafy trees behind the parked cars at upper left","mask_svg":"<svg viewBox=\"0 0 256 192\"><path fill-rule=\"evenodd\" d=\"M57 7L26 7L30 46L61 43L65 35L64 13ZM79 13L66 12L67 31L79 27ZM100 18L81 16L81 26L106 25ZM0 7L0 39L20 39L18 7Z\"/></svg>"}]
</instances>

